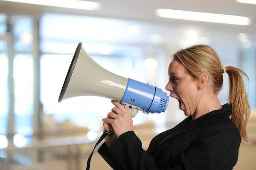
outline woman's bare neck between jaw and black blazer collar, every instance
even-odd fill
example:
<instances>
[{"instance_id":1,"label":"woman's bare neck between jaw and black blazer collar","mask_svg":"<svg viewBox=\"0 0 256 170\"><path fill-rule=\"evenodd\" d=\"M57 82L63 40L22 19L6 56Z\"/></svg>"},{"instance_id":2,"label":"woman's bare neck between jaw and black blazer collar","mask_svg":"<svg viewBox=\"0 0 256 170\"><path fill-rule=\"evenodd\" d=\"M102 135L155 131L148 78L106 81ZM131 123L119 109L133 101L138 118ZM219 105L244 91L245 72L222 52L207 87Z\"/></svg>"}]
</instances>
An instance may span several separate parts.
<instances>
[{"instance_id":1,"label":"woman's bare neck between jaw and black blazer collar","mask_svg":"<svg viewBox=\"0 0 256 170\"><path fill-rule=\"evenodd\" d=\"M201 97L192 120L197 119L211 111L219 110L222 106L216 95Z\"/></svg>"}]
</instances>

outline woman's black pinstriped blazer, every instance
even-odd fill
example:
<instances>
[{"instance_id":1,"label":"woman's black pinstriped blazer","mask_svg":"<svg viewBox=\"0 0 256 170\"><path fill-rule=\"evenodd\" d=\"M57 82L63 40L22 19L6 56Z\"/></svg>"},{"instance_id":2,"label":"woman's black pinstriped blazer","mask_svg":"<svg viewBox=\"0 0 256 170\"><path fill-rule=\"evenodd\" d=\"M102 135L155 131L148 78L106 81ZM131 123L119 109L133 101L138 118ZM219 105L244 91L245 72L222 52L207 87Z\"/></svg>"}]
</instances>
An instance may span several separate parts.
<instances>
[{"instance_id":1,"label":"woman's black pinstriped blazer","mask_svg":"<svg viewBox=\"0 0 256 170\"><path fill-rule=\"evenodd\" d=\"M232 170L238 160L241 137L223 105L155 136L143 150L134 131L123 133L108 149L98 152L114 170Z\"/></svg>"}]
</instances>

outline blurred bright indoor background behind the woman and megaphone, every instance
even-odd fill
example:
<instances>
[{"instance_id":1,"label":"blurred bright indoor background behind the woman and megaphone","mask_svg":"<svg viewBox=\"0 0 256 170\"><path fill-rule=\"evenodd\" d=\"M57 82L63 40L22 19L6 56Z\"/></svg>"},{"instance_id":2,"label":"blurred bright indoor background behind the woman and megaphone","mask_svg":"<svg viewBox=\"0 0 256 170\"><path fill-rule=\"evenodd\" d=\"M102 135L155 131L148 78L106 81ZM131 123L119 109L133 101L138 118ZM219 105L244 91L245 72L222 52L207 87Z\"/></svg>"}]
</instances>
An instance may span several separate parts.
<instances>
[{"instance_id":1,"label":"blurred bright indoor background behind the woman and megaphone","mask_svg":"<svg viewBox=\"0 0 256 170\"><path fill-rule=\"evenodd\" d=\"M256 169L255 0L0 0L0 170L85 169L113 105L93 96L58 103L79 42L102 67L163 91L172 54L213 47L250 78L251 144L241 144L234 169ZM227 96L224 74L221 104ZM145 150L185 118L178 105L133 119ZM97 151L91 169L111 170Z\"/></svg>"}]
</instances>

